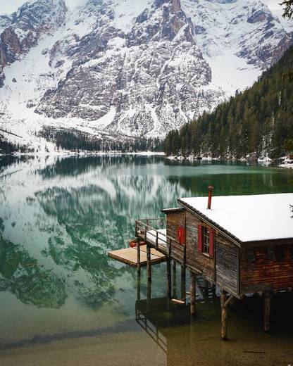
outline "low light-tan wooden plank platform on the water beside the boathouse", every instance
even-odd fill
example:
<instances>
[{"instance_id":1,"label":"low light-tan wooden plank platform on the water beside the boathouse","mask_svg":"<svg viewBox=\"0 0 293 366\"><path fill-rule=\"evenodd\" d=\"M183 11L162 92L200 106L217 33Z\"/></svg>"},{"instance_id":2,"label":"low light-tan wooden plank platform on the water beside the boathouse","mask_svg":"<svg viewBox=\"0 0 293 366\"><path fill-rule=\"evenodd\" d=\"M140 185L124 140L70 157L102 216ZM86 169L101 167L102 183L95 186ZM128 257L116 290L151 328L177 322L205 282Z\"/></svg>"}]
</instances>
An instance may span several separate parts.
<instances>
[{"instance_id":1,"label":"low light-tan wooden plank platform on the water beside the boathouse","mask_svg":"<svg viewBox=\"0 0 293 366\"><path fill-rule=\"evenodd\" d=\"M146 245L140 248L140 265L146 265ZM118 251L109 251L108 257L119 260L132 267L137 267L137 248L123 248ZM163 255L156 249L151 248L151 264L157 264L166 261L166 255Z\"/></svg>"}]
</instances>

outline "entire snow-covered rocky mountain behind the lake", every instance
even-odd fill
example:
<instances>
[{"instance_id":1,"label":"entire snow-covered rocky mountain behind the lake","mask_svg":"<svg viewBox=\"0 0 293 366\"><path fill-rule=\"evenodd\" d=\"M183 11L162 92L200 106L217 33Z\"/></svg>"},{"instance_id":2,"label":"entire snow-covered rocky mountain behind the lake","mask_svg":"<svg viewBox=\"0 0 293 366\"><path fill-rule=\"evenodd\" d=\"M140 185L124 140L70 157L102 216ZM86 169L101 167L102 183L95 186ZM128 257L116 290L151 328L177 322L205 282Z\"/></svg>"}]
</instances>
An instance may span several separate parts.
<instances>
[{"instance_id":1,"label":"entire snow-covered rocky mountain behind the lake","mask_svg":"<svg viewBox=\"0 0 293 366\"><path fill-rule=\"evenodd\" d=\"M284 24L252 0L31 1L0 17L0 128L163 136L275 63Z\"/></svg>"}]
</instances>

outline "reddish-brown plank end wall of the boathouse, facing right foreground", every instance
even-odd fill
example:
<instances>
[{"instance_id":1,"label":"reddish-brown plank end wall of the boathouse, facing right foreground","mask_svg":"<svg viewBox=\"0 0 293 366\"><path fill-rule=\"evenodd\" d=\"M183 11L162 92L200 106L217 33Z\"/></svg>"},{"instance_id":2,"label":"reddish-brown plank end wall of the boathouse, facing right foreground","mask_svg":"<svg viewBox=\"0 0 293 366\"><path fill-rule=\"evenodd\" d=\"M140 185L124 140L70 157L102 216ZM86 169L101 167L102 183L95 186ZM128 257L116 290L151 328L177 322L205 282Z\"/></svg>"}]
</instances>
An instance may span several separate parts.
<instances>
[{"instance_id":1,"label":"reddish-brown plank end wall of the boathouse, facing right foreground","mask_svg":"<svg viewBox=\"0 0 293 366\"><path fill-rule=\"evenodd\" d=\"M293 287L293 244L282 246L283 258L270 258L268 246L254 248L254 261L247 258L247 250L241 249L240 292L271 291ZM279 245L273 246L273 251ZM274 257L273 252L273 257ZM278 256L278 255L277 255Z\"/></svg>"}]
</instances>

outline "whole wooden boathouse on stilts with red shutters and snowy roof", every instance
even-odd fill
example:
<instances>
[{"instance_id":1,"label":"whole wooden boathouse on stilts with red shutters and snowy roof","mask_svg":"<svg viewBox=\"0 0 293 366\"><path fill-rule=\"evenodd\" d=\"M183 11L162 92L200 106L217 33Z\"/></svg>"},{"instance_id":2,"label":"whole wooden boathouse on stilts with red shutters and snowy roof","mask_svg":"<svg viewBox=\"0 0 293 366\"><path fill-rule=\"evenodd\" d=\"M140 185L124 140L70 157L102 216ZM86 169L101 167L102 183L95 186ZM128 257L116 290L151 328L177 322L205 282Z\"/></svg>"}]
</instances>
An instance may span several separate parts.
<instances>
[{"instance_id":1,"label":"whole wooden boathouse on stilts with red shutters and snowy roof","mask_svg":"<svg viewBox=\"0 0 293 366\"><path fill-rule=\"evenodd\" d=\"M168 298L171 261L190 271L190 312L196 314L197 275L220 287L222 339L227 339L227 308L246 294L263 296L264 330L270 328L270 299L293 287L293 194L179 198L162 217L135 222L136 267L146 246L151 281L151 248L166 255ZM180 302L180 301L179 301Z\"/></svg>"}]
</instances>

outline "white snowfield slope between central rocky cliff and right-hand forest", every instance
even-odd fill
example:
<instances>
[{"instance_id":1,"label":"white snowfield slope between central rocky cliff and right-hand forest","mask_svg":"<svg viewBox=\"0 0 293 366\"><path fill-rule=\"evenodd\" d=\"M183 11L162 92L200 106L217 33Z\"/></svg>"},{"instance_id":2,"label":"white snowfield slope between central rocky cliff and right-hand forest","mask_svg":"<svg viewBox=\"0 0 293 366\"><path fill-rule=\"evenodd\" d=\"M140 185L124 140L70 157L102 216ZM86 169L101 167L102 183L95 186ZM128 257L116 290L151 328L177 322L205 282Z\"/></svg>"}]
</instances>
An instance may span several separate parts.
<instances>
[{"instance_id":1,"label":"white snowfield slope between central rocky cliff and right-hand forest","mask_svg":"<svg viewBox=\"0 0 293 366\"><path fill-rule=\"evenodd\" d=\"M261 1L182 0L199 48L212 69L212 83L228 95L253 84L293 42Z\"/></svg>"}]
</instances>

